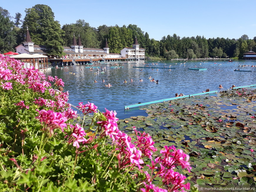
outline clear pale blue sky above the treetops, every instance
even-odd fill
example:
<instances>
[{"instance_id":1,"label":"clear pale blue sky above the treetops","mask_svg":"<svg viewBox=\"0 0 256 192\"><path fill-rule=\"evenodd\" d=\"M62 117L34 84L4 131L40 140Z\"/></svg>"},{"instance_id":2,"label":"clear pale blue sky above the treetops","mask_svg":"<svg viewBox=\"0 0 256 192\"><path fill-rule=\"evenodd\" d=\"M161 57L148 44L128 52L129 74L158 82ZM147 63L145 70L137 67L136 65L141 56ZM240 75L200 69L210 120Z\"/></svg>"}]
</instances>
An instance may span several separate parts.
<instances>
[{"instance_id":1,"label":"clear pale blue sky above the treetops","mask_svg":"<svg viewBox=\"0 0 256 192\"><path fill-rule=\"evenodd\" d=\"M255 0L12 0L0 6L11 16L20 12L24 18L25 9L36 4L50 6L61 26L78 19L95 28L104 24L135 24L156 40L174 33L180 37L200 35L207 39L256 36Z\"/></svg>"}]
</instances>

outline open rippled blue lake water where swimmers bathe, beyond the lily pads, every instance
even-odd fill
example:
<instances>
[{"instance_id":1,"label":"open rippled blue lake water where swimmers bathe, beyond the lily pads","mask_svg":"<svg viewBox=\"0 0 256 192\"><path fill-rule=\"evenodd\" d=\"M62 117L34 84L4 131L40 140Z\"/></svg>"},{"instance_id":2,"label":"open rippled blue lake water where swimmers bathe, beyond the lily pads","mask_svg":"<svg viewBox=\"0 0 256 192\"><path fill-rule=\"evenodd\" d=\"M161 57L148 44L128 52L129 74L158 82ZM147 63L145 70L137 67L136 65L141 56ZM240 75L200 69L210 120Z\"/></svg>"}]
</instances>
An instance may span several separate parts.
<instances>
[{"instance_id":1,"label":"open rippled blue lake water where swimmers bathe, beyond the lily pads","mask_svg":"<svg viewBox=\"0 0 256 192\"><path fill-rule=\"evenodd\" d=\"M152 65L152 63L158 63ZM46 75L58 76L65 85L64 91L69 91L69 102L75 106L79 102L87 101L98 106L100 111L104 108L115 110L117 117L124 119L130 116L146 115L142 110L129 109L124 111L124 106L156 101L164 98L171 98L175 93L185 95L201 93L206 89L210 91L220 90L221 84L224 89L235 86L246 86L256 84L256 67L238 67L238 65L255 65L253 60L239 60L234 62L225 61L146 61L152 67L175 67L169 69L147 69L133 68L132 66L145 66L141 64L120 64L123 68L110 68L110 64L98 64L100 67L106 66L105 73L97 73L97 69L92 71L88 66L92 65L73 65L69 68L52 68ZM184 64L184 62L186 62ZM94 65L96 66L96 65ZM195 67L196 66L196 67ZM60 67L60 66L59 66ZM207 68L205 71L195 71L188 68ZM82 70L81 70L82 69ZM142 71L140 71L143 69ZM252 72L236 72L234 69L250 70ZM69 74L74 72L75 74ZM149 81L151 76L159 80L159 84ZM102 79L105 82L102 82ZM131 82L132 79L133 81ZM143 79L142 82L139 79ZM94 80L98 83L94 83ZM127 83L123 83L127 80ZM105 87L110 83L111 87Z\"/></svg>"}]
</instances>

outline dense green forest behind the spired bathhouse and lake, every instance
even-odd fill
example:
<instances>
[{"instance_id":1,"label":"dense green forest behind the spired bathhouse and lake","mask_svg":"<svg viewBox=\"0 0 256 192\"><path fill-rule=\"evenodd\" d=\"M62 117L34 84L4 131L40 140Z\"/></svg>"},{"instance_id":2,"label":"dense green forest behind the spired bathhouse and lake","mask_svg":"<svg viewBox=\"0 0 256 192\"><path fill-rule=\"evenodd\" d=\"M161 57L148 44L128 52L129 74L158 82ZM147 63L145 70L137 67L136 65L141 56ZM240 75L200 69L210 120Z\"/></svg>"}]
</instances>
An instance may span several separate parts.
<instances>
[{"instance_id":1,"label":"dense green forest behind the spired bathhouse and lake","mask_svg":"<svg viewBox=\"0 0 256 192\"><path fill-rule=\"evenodd\" d=\"M84 19L61 27L55 20L54 12L47 5L37 4L25 10L24 20L17 12L11 16L9 11L0 7L0 51L15 51L15 47L25 41L28 26L32 41L36 45L49 48L49 55L61 56L63 46L72 44L73 34L80 35L82 45L88 48L103 48L108 40L109 52L120 53L124 47L131 47L135 36L141 48L146 49L146 56L174 58L238 57L247 51L256 51L256 36L249 39L242 35L239 39L210 38L204 36L182 37L176 34L163 36L160 41L150 39L147 32L137 25L122 27L102 25L91 27Z\"/></svg>"}]
</instances>

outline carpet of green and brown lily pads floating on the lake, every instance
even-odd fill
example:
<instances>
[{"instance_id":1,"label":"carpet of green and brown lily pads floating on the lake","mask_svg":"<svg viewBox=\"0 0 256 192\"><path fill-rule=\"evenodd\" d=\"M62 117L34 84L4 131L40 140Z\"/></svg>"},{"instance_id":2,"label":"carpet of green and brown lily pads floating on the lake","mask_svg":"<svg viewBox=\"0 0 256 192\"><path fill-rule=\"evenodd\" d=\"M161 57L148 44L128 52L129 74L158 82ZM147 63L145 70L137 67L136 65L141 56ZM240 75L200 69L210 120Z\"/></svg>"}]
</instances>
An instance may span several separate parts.
<instances>
[{"instance_id":1,"label":"carpet of green and brown lily pads floating on the lake","mask_svg":"<svg viewBox=\"0 0 256 192\"><path fill-rule=\"evenodd\" d=\"M134 138L133 126L149 133L158 151L164 145L182 148L190 156L192 171L179 171L192 185L252 185L256 183L255 94L254 89L234 89L155 103L140 108L147 117L119 120L119 128Z\"/></svg>"}]
</instances>

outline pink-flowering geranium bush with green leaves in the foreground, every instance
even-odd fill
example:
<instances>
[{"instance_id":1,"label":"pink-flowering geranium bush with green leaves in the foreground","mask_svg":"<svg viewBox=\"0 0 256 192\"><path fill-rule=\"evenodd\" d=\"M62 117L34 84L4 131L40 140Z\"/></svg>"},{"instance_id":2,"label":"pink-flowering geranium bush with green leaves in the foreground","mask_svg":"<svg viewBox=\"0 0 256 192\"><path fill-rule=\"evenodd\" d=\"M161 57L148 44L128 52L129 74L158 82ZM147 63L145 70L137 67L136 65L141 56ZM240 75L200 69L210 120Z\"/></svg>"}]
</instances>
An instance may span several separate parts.
<instances>
[{"instance_id":1,"label":"pink-flowering geranium bush with green leaves in the foreground","mask_svg":"<svg viewBox=\"0 0 256 192\"><path fill-rule=\"evenodd\" d=\"M153 159L157 149L148 133L134 127L134 141L119 130L115 112L99 112L93 103L78 106L92 123L75 123L68 92L55 95L50 84L64 86L61 79L0 55L0 82L1 190L189 190L176 172L177 166L190 171L187 154L164 146Z\"/></svg>"}]
</instances>

